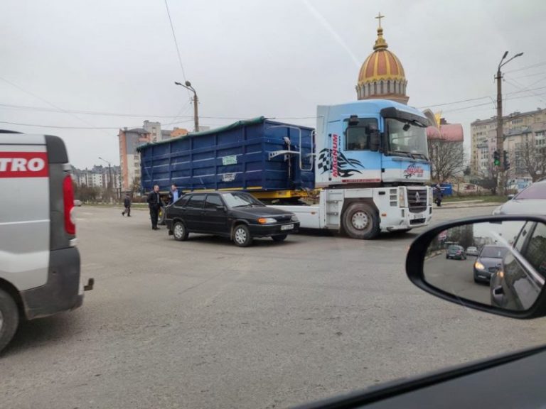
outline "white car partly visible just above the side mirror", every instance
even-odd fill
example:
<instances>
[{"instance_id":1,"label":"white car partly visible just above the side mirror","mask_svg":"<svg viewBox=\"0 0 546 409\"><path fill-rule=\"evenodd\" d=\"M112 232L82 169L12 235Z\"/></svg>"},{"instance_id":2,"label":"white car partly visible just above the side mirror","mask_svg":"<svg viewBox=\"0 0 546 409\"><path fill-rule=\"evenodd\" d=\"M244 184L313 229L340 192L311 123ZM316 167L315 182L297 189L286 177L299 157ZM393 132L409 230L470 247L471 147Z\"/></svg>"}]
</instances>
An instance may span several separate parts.
<instances>
[{"instance_id":1,"label":"white car partly visible just above the side mirror","mask_svg":"<svg viewBox=\"0 0 546 409\"><path fill-rule=\"evenodd\" d=\"M533 183L493 210L493 214L546 214L546 179Z\"/></svg>"}]
</instances>

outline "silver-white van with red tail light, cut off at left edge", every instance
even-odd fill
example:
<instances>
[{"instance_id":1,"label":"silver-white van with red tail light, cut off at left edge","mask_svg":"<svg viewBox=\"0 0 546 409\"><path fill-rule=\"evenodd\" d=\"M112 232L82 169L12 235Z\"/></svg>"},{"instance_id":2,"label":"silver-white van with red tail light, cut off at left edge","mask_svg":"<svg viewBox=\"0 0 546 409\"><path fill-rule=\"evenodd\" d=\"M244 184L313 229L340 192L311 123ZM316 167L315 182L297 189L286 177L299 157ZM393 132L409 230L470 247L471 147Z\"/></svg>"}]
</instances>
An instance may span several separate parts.
<instances>
[{"instance_id":1,"label":"silver-white van with red tail light, cut off at left edge","mask_svg":"<svg viewBox=\"0 0 546 409\"><path fill-rule=\"evenodd\" d=\"M73 209L63 140L0 130L0 351L20 317L82 305Z\"/></svg>"}]
</instances>

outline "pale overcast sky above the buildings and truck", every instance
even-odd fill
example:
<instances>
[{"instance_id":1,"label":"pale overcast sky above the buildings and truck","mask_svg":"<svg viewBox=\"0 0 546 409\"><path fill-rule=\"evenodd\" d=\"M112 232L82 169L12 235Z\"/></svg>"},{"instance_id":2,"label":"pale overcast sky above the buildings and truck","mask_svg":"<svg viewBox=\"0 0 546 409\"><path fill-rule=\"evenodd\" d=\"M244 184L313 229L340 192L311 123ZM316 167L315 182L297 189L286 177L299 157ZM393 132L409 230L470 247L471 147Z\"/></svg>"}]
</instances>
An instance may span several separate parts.
<instances>
[{"instance_id":1,"label":"pale overcast sky above the buildings and truck","mask_svg":"<svg viewBox=\"0 0 546 409\"><path fill-rule=\"evenodd\" d=\"M317 104L356 99L380 11L410 104L464 124L495 114L505 50L505 113L546 107L546 2L363 0L3 0L0 129L62 136L78 168L119 163L117 129L269 116L313 125ZM460 102L471 99L471 101ZM459 103L454 103L459 102ZM439 105L444 104L444 105ZM311 117L311 118L310 118Z\"/></svg>"}]
</instances>

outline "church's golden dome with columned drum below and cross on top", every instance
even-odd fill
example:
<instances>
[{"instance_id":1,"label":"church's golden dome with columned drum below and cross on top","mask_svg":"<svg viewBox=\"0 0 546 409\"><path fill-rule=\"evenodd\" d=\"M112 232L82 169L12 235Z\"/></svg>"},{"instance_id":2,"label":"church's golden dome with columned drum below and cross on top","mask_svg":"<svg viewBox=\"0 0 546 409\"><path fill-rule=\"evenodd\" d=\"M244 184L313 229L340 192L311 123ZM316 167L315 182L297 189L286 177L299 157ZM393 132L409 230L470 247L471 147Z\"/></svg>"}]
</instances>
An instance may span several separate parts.
<instances>
[{"instance_id":1,"label":"church's golden dome with columned drum below and cross on top","mask_svg":"<svg viewBox=\"0 0 546 409\"><path fill-rule=\"evenodd\" d=\"M378 38L373 45L373 53L368 55L358 73L356 94L358 99L392 99L392 101L407 104L407 80L404 67L397 56L390 50L383 38L381 13L375 18L379 20Z\"/></svg>"}]
</instances>

